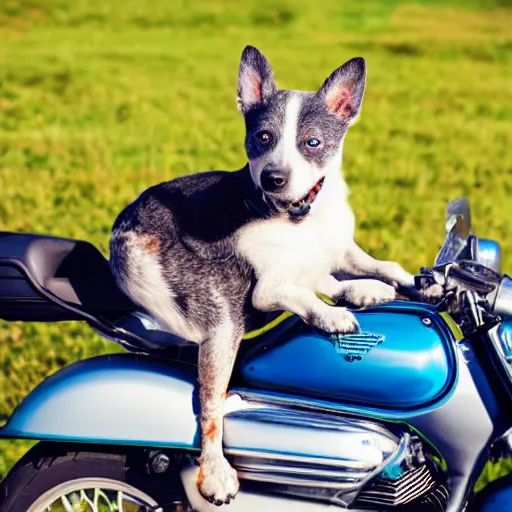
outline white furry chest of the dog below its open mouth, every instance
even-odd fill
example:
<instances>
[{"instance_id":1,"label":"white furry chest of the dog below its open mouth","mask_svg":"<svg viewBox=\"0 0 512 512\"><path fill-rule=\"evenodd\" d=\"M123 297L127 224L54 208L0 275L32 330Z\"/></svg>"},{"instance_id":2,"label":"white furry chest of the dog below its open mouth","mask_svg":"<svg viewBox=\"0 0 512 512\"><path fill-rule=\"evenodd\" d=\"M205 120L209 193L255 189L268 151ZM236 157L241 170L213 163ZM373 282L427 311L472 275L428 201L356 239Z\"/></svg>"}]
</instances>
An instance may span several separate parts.
<instances>
[{"instance_id":1,"label":"white furry chest of the dog below its open mouth","mask_svg":"<svg viewBox=\"0 0 512 512\"><path fill-rule=\"evenodd\" d=\"M354 217L343 202L298 224L286 218L249 224L240 231L237 248L257 279L272 275L314 288L320 277L335 270L353 234Z\"/></svg>"}]
</instances>

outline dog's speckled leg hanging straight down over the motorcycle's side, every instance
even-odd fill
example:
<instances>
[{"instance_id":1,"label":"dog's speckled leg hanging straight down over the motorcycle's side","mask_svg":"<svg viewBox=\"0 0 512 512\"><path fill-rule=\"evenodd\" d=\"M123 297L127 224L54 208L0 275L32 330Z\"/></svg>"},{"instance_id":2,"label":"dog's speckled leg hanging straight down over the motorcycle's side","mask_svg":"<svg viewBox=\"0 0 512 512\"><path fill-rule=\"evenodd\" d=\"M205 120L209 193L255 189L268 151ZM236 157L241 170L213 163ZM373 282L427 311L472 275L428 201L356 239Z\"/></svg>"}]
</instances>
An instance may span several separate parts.
<instances>
[{"instance_id":1,"label":"dog's speckled leg hanging straight down over the motorcycle's side","mask_svg":"<svg viewBox=\"0 0 512 512\"><path fill-rule=\"evenodd\" d=\"M211 503L229 503L238 492L236 471L222 451L223 406L243 328L224 322L199 347L201 458L197 486Z\"/></svg>"}]
</instances>

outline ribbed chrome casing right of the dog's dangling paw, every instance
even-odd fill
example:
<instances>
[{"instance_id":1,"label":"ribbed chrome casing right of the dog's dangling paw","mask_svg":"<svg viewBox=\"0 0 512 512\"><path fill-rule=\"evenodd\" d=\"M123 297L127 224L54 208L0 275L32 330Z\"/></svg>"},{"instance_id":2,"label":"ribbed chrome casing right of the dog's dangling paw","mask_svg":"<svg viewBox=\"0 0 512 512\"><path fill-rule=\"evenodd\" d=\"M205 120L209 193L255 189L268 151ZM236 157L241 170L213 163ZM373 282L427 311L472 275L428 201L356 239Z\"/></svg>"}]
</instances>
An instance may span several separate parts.
<instances>
[{"instance_id":1,"label":"ribbed chrome casing right of the dog's dangling paw","mask_svg":"<svg viewBox=\"0 0 512 512\"><path fill-rule=\"evenodd\" d=\"M276 492L321 494L340 506L410 442L376 424L268 404L228 414L224 428L225 453L241 479Z\"/></svg>"}]
</instances>

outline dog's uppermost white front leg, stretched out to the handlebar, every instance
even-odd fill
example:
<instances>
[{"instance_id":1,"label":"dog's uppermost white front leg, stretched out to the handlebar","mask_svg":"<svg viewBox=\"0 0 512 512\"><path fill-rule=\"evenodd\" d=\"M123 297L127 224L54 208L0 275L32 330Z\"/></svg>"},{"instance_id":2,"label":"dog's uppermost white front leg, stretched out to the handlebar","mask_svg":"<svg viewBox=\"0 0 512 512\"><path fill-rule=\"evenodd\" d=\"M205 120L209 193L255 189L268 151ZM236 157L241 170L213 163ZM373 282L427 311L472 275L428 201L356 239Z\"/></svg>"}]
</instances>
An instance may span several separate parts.
<instances>
[{"instance_id":1,"label":"dog's uppermost white front leg, stretched out to the handlebar","mask_svg":"<svg viewBox=\"0 0 512 512\"><path fill-rule=\"evenodd\" d=\"M354 277L378 279L395 288L414 285L414 276L404 270L399 263L376 260L355 242L345 251L337 267L338 270L347 272Z\"/></svg>"}]
</instances>

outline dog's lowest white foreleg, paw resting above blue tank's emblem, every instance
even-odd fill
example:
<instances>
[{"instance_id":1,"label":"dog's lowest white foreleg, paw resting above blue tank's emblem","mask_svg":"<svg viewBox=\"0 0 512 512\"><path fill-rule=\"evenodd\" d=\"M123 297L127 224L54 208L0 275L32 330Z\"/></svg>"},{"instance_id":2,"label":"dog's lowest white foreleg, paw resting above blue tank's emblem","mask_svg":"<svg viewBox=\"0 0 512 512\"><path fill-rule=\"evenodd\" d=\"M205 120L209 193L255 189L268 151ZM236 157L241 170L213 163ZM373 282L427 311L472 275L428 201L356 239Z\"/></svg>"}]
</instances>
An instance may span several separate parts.
<instances>
[{"instance_id":1,"label":"dog's lowest white foreleg, paw resting above blue tank's emblem","mask_svg":"<svg viewBox=\"0 0 512 512\"><path fill-rule=\"evenodd\" d=\"M347 308L329 306L313 290L304 286L261 279L256 284L252 303L260 311L290 311L306 323L328 332L347 333L358 329L355 316Z\"/></svg>"}]
</instances>

